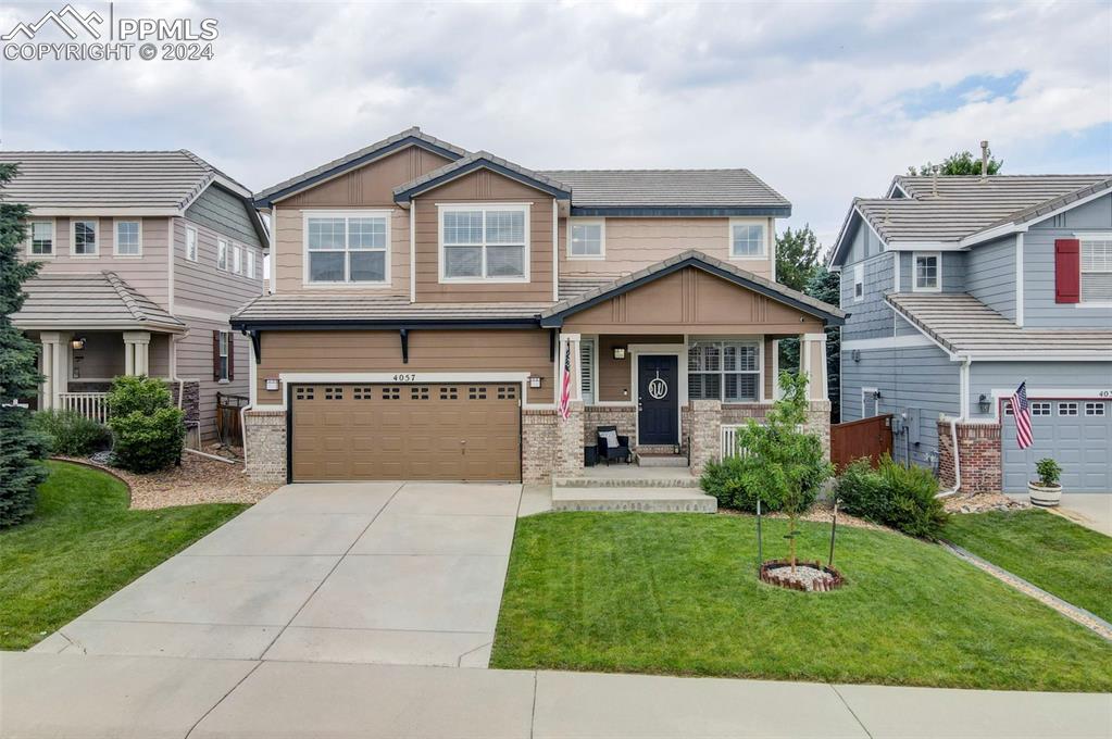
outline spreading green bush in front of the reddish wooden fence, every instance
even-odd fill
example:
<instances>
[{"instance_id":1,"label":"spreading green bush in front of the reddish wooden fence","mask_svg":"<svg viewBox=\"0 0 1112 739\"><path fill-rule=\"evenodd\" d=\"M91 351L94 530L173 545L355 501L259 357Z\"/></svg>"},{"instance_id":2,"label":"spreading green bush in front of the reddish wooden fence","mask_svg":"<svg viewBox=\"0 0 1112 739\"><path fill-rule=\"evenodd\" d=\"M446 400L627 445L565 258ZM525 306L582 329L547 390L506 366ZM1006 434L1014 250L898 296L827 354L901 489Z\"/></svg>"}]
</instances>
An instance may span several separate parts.
<instances>
[{"instance_id":1,"label":"spreading green bush in front of the reddish wooden fence","mask_svg":"<svg viewBox=\"0 0 1112 739\"><path fill-rule=\"evenodd\" d=\"M846 512L922 539L937 538L947 518L934 475L924 467L904 467L887 455L875 470L867 460L850 465L834 492Z\"/></svg>"}]
</instances>

